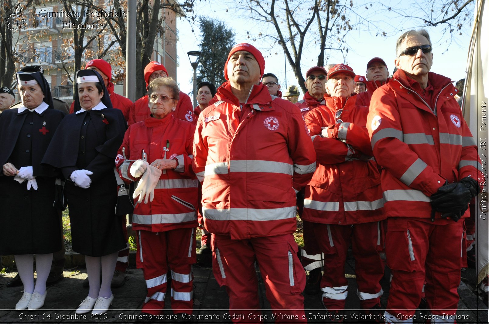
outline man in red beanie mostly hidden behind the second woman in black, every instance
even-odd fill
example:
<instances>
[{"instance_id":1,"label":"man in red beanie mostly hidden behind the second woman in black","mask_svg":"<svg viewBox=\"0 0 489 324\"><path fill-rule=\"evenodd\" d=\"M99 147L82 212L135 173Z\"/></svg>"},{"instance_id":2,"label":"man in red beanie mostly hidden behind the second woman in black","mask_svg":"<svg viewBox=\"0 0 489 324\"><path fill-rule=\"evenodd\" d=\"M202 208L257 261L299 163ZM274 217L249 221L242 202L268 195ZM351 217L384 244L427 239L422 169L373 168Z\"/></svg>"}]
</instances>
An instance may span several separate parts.
<instances>
[{"instance_id":1,"label":"man in red beanie mostly hidden behind the second woman in black","mask_svg":"<svg viewBox=\"0 0 489 324\"><path fill-rule=\"evenodd\" d=\"M112 80L112 67L107 61L102 59L96 59L88 61L85 65L86 69L95 70L102 76L104 79L105 86L107 91L109 92L109 96L111 97L112 107L120 109L124 114L124 119L126 121L129 120L129 110L133 105L133 101L127 99L124 96L118 95L114 92L114 84L111 82ZM71 107L69 109L69 113L73 113L74 102L71 103ZM126 265L127 267L127 265Z\"/></svg>"}]
</instances>

